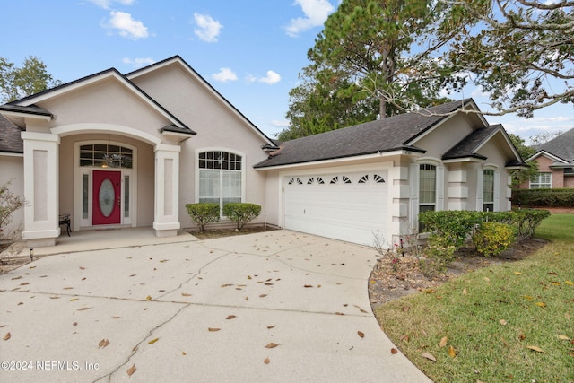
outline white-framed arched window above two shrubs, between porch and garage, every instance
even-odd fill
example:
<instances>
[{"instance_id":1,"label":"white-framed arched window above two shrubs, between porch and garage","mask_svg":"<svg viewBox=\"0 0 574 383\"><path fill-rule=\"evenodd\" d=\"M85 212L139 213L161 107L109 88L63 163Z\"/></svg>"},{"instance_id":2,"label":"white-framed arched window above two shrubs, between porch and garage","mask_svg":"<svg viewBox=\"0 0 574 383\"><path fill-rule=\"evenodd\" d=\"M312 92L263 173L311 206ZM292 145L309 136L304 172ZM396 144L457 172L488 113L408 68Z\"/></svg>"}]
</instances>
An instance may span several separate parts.
<instances>
[{"instance_id":1,"label":"white-framed arched window above two shrubs, between porch and garage","mask_svg":"<svg viewBox=\"0 0 574 383\"><path fill-rule=\"evenodd\" d=\"M232 152L199 153L199 202L241 202L242 157Z\"/></svg>"}]
</instances>

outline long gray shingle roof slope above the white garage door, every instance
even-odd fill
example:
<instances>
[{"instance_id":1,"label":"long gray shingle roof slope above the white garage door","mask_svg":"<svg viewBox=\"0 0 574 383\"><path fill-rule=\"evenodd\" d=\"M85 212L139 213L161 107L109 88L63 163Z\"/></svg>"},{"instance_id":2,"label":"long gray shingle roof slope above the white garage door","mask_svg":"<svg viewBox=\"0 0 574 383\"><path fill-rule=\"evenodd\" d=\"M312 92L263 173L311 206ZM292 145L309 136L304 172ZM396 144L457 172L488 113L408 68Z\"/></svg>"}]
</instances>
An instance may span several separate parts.
<instances>
[{"instance_id":1,"label":"long gray shingle roof slope above the white garage door","mask_svg":"<svg viewBox=\"0 0 574 383\"><path fill-rule=\"evenodd\" d=\"M420 113L404 113L287 141L281 144L281 149L267 160L257 163L255 168L333 160L403 149L425 152L409 143L418 135L422 135L432 126L447 118L446 114L467 105L471 101L471 99L458 100L429 108L428 110L432 115L428 117L422 116ZM439 116L441 114L445 116Z\"/></svg>"}]
</instances>

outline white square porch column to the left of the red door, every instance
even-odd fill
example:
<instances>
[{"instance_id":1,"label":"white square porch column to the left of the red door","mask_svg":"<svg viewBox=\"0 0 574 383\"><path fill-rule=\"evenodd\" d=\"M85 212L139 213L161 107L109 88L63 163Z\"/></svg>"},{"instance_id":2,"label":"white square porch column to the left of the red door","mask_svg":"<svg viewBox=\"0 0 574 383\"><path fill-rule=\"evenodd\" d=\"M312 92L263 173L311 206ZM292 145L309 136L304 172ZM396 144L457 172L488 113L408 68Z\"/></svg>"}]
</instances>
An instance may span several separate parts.
<instances>
[{"instance_id":1,"label":"white square porch column to the left of the red door","mask_svg":"<svg viewBox=\"0 0 574 383\"><path fill-rule=\"evenodd\" d=\"M56 245L58 224L58 135L22 132L24 141L24 231L30 248Z\"/></svg>"}]
</instances>

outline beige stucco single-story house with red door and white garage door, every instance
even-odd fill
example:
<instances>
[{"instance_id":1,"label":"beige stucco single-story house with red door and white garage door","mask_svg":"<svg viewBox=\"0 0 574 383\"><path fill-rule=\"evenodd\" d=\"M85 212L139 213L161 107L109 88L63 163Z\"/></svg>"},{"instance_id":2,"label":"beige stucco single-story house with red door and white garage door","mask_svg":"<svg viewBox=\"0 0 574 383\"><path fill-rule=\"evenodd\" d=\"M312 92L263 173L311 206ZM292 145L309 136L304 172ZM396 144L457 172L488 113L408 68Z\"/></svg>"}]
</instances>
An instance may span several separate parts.
<instances>
[{"instance_id":1,"label":"beige stucco single-story house with red door and white garage door","mask_svg":"<svg viewBox=\"0 0 574 383\"><path fill-rule=\"evenodd\" d=\"M419 212L509 210L509 170L524 166L472 99L278 144L178 56L0 114L0 182L28 202L14 224L30 247L54 245L64 213L74 231L174 236L195 227L186 204L239 201L262 206L254 223L392 246Z\"/></svg>"}]
</instances>

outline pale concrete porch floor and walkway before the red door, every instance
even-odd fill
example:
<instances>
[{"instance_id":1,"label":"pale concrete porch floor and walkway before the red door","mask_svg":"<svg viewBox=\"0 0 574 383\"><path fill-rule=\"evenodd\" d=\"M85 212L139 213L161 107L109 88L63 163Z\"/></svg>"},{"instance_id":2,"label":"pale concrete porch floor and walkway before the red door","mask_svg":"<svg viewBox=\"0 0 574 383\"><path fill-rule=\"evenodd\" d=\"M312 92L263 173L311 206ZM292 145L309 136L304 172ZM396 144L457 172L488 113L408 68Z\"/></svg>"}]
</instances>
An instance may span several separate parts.
<instances>
[{"instance_id":1,"label":"pale concrete porch floor and walkway before the red door","mask_svg":"<svg viewBox=\"0 0 574 383\"><path fill-rule=\"evenodd\" d=\"M198 240L187 231L178 231L177 237L157 237L152 227L102 229L72 231L68 237L65 230L56 239L56 246L34 248L34 256L74 253L77 251L103 250L106 248L130 248L135 246L156 245ZM16 243L12 247L13 257L30 257L26 242Z\"/></svg>"}]
</instances>

